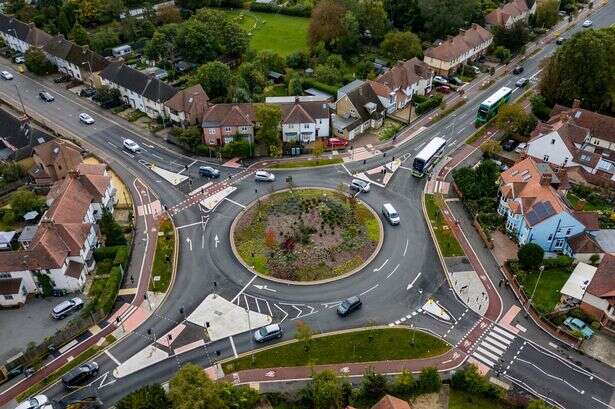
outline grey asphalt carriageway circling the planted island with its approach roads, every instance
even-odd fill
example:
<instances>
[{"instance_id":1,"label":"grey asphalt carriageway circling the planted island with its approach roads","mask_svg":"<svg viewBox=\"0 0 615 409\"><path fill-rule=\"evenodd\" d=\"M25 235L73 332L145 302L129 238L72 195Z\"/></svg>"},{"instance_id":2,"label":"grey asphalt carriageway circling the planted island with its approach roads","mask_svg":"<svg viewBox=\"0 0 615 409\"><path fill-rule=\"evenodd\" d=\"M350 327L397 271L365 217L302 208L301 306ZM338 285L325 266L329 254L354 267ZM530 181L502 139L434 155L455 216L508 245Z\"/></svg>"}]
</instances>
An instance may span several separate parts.
<instances>
[{"instance_id":1,"label":"grey asphalt carriageway circling the planted island with its approach roads","mask_svg":"<svg viewBox=\"0 0 615 409\"><path fill-rule=\"evenodd\" d=\"M615 20L615 5L608 4L597 11L592 17L596 26L606 26ZM577 28L578 29L578 28ZM523 65L524 76L532 77L539 72L539 63L542 58L549 55L554 44L545 45L540 52L531 57ZM5 69L14 72L7 64L0 64ZM17 73L15 73L17 74ZM511 86L518 76L506 75L496 80L489 89L470 94L465 105L454 114L430 126L418 137L399 148L387 151L387 158L371 158L366 164L352 163L346 165L351 172L371 169L384 163L391 156L404 157L407 160L404 166L411 166L412 157L428 140L441 136L449 141L448 151L452 151L474 132L473 119L479 103L489 94L502 86ZM71 133L83 138L93 150L97 151L103 159L119 170L120 176L131 183L134 178L141 179L150 186L167 206L173 206L185 199L185 194L177 187L171 186L153 173L147 165L156 166L178 172L189 166L188 173L195 172L195 162L191 158L176 153L174 150L161 147L149 138L143 138L129 127L110 119L105 114L82 99L70 95L67 91L57 92L57 87L47 88L47 84L33 80L22 75L15 75L13 81L0 82L0 96L13 98L16 96L16 87L19 89L26 111L45 118L45 121L61 125ZM514 88L514 87L513 87ZM38 92L47 89L56 97L54 103L44 103L38 98ZM515 90L519 93L521 90ZM82 125L78 121L80 112L88 112L96 119L96 124ZM123 139L130 138L139 143L144 151L138 155L131 155L121 148ZM283 182L286 175L293 176L298 186L324 186L335 188L339 183L348 183L350 176L342 166L335 166L309 171L276 172L277 181L273 188L285 187ZM224 169L223 177L232 175L234 171ZM202 181L195 178L195 186ZM185 311L192 311L207 295L214 290L221 296L232 299L239 293L252 310L259 308L256 303L268 303L270 306L281 306L282 312L275 315L277 321L282 321L286 332L284 339L289 339L293 333L294 320L300 318L314 329L327 332L336 329L357 327L367 323L376 322L388 324L419 308L429 296L434 296L451 311L464 309L453 296L446 284L446 280L437 261L435 249L426 232L426 226L420 211L420 194L423 181L412 178L407 171L398 171L386 189L372 186L368 194L361 194L360 199L380 210L382 203L391 202L400 212L402 224L391 227L384 224L385 240L377 257L361 272L341 281L316 286L288 286L268 282L246 271L234 258L229 246L228 229L232 219L247 205L260 195L268 193L270 187L263 184L255 185L250 179L237 185L232 200L224 201L210 213L206 228L195 225L179 230L180 257L178 274L171 293L165 303L160 306L156 314L150 317L140 329L127 336L109 351L114 359L108 355L97 358L101 365L101 374L95 383L89 387L71 394L71 396L84 396L95 392L106 404L112 404L124 394L147 383L160 382L168 379L179 365L185 362L196 362L209 366L222 358L233 356L234 351L228 338L209 343L205 347L192 350L179 356L153 365L136 374L115 380L110 374L117 366L115 360L125 361L139 350L152 342L152 336L146 333L150 328L154 334L163 334L183 321L180 307ZM257 191L255 192L255 189ZM201 210L190 207L174 216L177 226L187 226L203 217ZM216 245L215 237L220 243ZM419 274L420 273L420 274ZM489 272L493 278L499 272ZM214 282L217 284L214 287ZM408 284L413 283L408 289ZM268 289L264 289L266 285ZM347 319L340 319L330 308L340 300L361 294L364 308ZM261 301L259 301L261 300ZM264 301L263 301L264 300ZM505 311L514 303L512 298L504 299ZM275 308L274 308L275 309ZM458 329L451 334L449 342L455 343L477 320L477 316L467 314ZM436 333L443 334L446 327L441 323L425 319L421 325L428 327ZM235 350L238 353L254 349L251 334L243 333L233 337ZM542 340L541 340L542 341ZM521 342L529 342L523 340ZM520 347L520 346L519 346ZM518 356L533 363L513 366L514 372L509 375L511 381L533 393L548 397L563 407L584 408L602 407L600 402L611 401L613 386L609 383L613 379L612 371L601 368L601 372L611 377L602 380L594 375L587 375L579 368L569 366L561 358L553 357L540 347L532 352L526 347ZM563 368L572 368L564 370ZM564 385L564 387L562 387ZM566 385L574 385L574 388ZM581 393L580 391L583 391ZM66 393L58 386L52 386L49 395L60 399ZM592 402L588 405L588 402ZM595 402L595 403L594 403ZM608 406L604 406L608 407Z\"/></svg>"}]
</instances>

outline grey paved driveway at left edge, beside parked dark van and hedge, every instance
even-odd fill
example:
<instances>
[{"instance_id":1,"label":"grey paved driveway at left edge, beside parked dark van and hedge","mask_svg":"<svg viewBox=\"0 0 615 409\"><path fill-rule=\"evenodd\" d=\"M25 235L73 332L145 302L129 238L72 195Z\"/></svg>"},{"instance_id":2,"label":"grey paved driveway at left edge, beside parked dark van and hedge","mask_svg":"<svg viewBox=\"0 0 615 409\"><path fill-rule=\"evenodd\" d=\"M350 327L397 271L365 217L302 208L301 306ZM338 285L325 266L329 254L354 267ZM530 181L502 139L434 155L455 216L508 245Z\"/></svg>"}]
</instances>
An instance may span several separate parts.
<instances>
[{"instance_id":1,"label":"grey paved driveway at left edge, beside parked dark van and hedge","mask_svg":"<svg viewBox=\"0 0 615 409\"><path fill-rule=\"evenodd\" d=\"M0 332L3 334L0 342L0 362L25 350L28 343L38 344L64 328L69 319L52 320L49 318L49 312L60 302L74 296L30 298L19 309L0 310Z\"/></svg>"}]
</instances>

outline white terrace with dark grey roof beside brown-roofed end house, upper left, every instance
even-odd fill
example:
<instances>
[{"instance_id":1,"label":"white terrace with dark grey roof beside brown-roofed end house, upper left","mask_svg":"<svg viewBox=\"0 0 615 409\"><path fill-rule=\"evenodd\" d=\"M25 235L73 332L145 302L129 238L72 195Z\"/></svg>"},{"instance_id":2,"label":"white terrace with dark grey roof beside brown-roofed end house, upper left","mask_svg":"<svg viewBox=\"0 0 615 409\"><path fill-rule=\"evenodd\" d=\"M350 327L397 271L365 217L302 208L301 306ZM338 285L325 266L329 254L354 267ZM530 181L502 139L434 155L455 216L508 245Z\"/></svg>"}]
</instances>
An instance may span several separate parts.
<instances>
[{"instance_id":1,"label":"white terrace with dark grey roof beside brown-roofed end house, upper left","mask_svg":"<svg viewBox=\"0 0 615 409\"><path fill-rule=\"evenodd\" d=\"M102 85L119 90L124 102L150 118L164 117L164 103L177 94L174 87L122 62L107 65L99 77Z\"/></svg>"}]
</instances>

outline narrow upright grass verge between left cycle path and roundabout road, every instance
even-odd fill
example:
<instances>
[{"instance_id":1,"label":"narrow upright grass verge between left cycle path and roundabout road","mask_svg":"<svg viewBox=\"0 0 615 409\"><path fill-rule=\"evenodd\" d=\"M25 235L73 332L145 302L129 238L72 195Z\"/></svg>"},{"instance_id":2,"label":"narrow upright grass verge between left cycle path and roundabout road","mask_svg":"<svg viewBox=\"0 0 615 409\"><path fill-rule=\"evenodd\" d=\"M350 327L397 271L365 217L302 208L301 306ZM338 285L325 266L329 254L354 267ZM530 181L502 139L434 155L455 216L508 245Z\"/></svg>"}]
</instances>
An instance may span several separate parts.
<instances>
[{"instance_id":1,"label":"narrow upright grass verge between left cycle path and roundabout road","mask_svg":"<svg viewBox=\"0 0 615 409\"><path fill-rule=\"evenodd\" d=\"M152 280L150 290L163 293L169 288L173 275L173 251L175 250L175 231L171 220L164 219L160 222L158 240L156 241L156 254L152 267ZM154 280L159 277L158 280Z\"/></svg>"}]
</instances>

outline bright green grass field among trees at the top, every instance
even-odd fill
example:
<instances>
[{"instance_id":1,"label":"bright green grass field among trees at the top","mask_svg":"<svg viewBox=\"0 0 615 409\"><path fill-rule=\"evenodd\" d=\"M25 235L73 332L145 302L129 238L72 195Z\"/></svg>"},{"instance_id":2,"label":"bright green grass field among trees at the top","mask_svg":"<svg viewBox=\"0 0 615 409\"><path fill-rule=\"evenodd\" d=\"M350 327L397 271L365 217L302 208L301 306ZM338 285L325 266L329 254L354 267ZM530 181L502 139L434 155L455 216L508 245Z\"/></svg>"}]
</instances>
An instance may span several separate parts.
<instances>
[{"instance_id":1,"label":"bright green grass field among trees at the top","mask_svg":"<svg viewBox=\"0 0 615 409\"><path fill-rule=\"evenodd\" d=\"M236 15L241 26L251 33L250 46L254 51L271 50L287 56L308 48L308 18L247 10L228 13Z\"/></svg>"}]
</instances>

